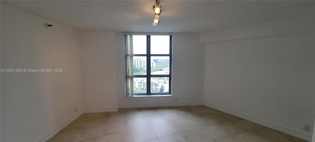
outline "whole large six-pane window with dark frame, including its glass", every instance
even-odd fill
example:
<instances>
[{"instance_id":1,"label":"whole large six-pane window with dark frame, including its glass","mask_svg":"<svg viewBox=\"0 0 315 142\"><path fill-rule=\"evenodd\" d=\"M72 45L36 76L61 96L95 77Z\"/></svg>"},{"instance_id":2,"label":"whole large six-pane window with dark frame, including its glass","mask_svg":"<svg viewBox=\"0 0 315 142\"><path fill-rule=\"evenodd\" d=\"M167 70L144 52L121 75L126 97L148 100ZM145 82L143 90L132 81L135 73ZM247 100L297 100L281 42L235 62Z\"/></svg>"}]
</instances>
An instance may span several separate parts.
<instances>
[{"instance_id":1,"label":"whole large six-pane window with dark frame, including its glass","mask_svg":"<svg viewBox=\"0 0 315 142\"><path fill-rule=\"evenodd\" d=\"M172 36L126 35L126 96L171 94Z\"/></svg>"}]
</instances>

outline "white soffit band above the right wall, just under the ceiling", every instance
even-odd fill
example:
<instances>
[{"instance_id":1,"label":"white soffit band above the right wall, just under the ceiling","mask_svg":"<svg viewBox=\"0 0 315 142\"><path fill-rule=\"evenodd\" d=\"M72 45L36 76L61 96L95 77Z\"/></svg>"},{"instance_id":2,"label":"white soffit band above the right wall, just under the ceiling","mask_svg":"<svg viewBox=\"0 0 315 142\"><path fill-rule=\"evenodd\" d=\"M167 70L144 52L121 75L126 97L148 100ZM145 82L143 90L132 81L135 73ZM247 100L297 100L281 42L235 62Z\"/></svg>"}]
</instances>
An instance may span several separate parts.
<instances>
[{"instance_id":1,"label":"white soffit band above the right wall, just under the ceiling","mask_svg":"<svg viewBox=\"0 0 315 142\"><path fill-rule=\"evenodd\" d=\"M263 37L271 35L285 35L308 33L315 31L315 20L313 15L303 15L266 21L252 25L234 27L201 33L201 42L214 42L223 40L245 39L253 37ZM244 31L245 30L245 31Z\"/></svg>"}]
</instances>

